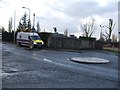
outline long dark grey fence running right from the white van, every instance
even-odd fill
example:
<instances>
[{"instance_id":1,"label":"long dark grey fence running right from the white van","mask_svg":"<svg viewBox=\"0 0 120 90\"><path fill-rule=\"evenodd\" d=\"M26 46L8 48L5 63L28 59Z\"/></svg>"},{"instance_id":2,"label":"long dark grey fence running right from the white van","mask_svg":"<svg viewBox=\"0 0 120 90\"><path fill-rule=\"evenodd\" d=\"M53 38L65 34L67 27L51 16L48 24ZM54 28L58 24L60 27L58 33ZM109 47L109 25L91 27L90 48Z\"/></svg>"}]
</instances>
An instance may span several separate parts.
<instances>
[{"instance_id":1,"label":"long dark grey fence running right from the white van","mask_svg":"<svg viewBox=\"0 0 120 90\"><path fill-rule=\"evenodd\" d=\"M48 47L62 49L93 49L95 47L95 40L49 37Z\"/></svg>"}]
</instances>

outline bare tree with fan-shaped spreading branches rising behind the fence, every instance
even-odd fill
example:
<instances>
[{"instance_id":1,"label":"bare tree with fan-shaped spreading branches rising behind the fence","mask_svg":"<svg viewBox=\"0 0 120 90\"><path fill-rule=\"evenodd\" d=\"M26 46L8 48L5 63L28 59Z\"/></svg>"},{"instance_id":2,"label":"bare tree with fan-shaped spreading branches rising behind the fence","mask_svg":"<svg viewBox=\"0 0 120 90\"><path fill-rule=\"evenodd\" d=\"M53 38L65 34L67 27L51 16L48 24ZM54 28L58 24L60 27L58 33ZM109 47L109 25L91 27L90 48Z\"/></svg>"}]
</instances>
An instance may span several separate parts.
<instances>
[{"instance_id":1,"label":"bare tree with fan-shaped spreading branches rising behind the fence","mask_svg":"<svg viewBox=\"0 0 120 90\"><path fill-rule=\"evenodd\" d=\"M91 37L93 35L94 29L95 29L94 18L91 18L91 20L89 22L86 22L86 24L81 24L81 30L85 37Z\"/></svg>"}]
</instances>

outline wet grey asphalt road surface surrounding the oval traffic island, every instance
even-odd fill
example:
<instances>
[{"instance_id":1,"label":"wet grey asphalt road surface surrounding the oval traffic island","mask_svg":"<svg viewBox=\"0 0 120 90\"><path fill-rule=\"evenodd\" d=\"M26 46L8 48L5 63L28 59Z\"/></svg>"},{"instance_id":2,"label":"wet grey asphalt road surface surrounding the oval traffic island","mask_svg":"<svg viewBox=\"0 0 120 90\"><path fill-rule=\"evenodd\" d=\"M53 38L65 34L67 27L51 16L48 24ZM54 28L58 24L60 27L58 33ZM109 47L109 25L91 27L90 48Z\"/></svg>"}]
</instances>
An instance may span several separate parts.
<instances>
[{"instance_id":1,"label":"wet grey asphalt road surface surrounding the oval traffic island","mask_svg":"<svg viewBox=\"0 0 120 90\"><path fill-rule=\"evenodd\" d=\"M27 49L2 43L3 88L117 88L118 56L103 51L79 52ZM84 64L72 57L109 60L108 64Z\"/></svg>"}]
</instances>

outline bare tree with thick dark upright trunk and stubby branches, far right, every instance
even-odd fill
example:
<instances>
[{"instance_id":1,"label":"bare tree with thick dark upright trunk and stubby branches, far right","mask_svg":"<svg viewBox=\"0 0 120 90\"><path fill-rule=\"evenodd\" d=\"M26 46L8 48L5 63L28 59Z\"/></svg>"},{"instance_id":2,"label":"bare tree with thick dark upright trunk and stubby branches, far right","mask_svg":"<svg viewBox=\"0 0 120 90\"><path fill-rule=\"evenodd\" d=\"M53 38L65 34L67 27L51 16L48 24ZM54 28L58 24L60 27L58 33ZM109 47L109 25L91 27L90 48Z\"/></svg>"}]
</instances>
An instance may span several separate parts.
<instances>
[{"instance_id":1,"label":"bare tree with thick dark upright trunk and stubby branches, far right","mask_svg":"<svg viewBox=\"0 0 120 90\"><path fill-rule=\"evenodd\" d=\"M113 22L113 19L109 19L109 25L108 26L105 25L105 27L108 28L108 32L105 30L106 34L103 34L103 35L107 41L111 41L110 38L111 38L112 31L115 27L115 24L116 24L116 22Z\"/></svg>"}]
</instances>

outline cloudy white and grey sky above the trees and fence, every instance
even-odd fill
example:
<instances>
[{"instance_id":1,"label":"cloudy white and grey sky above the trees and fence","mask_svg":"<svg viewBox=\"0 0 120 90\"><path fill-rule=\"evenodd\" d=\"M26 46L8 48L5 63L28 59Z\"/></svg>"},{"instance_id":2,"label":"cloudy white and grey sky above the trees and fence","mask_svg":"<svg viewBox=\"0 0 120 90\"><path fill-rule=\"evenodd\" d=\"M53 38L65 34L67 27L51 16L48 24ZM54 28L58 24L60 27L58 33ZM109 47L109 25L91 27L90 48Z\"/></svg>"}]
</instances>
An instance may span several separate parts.
<instances>
[{"instance_id":1,"label":"cloudy white and grey sky above the trees and fence","mask_svg":"<svg viewBox=\"0 0 120 90\"><path fill-rule=\"evenodd\" d=\"M93 37L99 38L100 25L108 25L111 18L116 22L113 33L118 36L118 2L119 0L0 0L0 26L8 29L10 17L15 16L15 28L17 28L20 18L26 12L31 22L35 13L35 26L40 23L41 31L54 32L53 27L59 33L68 33L77 37L82 35L80 25L89 19L95 19L95 32ZM14 25L13 25L14 27ZM103 28L105 32L106 28Z\"/></svg>"}]
</instances>

